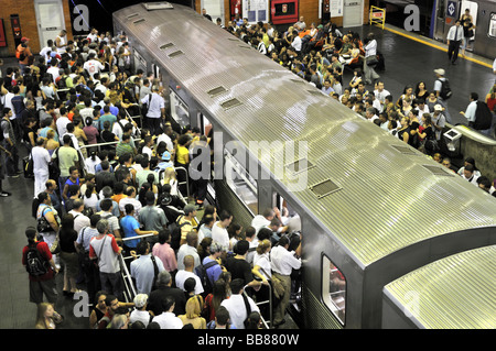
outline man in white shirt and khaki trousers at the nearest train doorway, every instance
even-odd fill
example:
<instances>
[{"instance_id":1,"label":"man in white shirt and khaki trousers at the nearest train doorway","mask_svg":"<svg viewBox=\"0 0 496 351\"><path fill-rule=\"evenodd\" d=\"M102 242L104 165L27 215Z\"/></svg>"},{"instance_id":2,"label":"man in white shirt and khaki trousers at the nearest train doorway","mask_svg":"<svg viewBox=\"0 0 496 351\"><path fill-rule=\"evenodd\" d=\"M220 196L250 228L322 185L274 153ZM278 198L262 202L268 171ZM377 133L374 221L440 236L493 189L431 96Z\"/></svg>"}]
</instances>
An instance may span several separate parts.
<instances>
[{"instance_id":1,"label":"man in white shirt and khaki trousers at the nearest train doorway","mask_svg":"<svg viewBox=\"0 0 496 351\"><path fill-rule=\"evenodd\" d=\"M301 260L295 257L294 251L288 251L290 241L288 237L282 237L278 245L270 251L272 275L278 277L284 286L284 295L273 311L273 325L277 327L283 323L285 308L289 305L291 295L291 272L301 267Z\"/></svg>"}]
</instances>

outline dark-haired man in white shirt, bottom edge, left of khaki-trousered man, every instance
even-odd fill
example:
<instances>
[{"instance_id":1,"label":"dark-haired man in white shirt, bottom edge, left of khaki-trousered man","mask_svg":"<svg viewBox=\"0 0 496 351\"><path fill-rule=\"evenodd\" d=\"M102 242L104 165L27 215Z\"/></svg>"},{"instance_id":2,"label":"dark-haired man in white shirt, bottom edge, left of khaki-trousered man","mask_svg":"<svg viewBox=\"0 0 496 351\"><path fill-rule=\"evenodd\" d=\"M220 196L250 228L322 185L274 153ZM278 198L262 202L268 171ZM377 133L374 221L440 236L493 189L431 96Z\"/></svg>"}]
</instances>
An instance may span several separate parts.
<instances>
[{"instance_id":1,"label":"dark-haired man in white shirt, bottom edge, left of khaki-trousered man","mask_svg":"<svg viewBox=\"0 0 496 351\"><path fill-rule=\"evenodd\" d=\"M230 282L230 292L233 293L233 295L230 295L229 298L224 299L220 303L220 306L224 306L229 311L230 321L236 327L236 329L245 329L245 320L248 318L249 312L260 312L260 308L258 308L251 297L242 294L242 279L233 279L233 282ZM248 301L250 311L247 310L245 298Z\"/></svg>"}]
</instances>

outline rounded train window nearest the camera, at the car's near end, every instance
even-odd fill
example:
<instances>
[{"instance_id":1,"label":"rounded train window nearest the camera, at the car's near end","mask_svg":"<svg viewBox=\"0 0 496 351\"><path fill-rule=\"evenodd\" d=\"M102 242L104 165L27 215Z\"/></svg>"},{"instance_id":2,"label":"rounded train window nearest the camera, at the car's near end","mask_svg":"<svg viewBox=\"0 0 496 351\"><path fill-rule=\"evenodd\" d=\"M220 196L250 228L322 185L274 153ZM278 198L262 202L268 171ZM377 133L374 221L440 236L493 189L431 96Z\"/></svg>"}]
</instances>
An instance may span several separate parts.
<instances>
[{"instance_id":1,"label":"rounded train window nearest the camera, at the car's near end","mask_svg":"<svg viewBox=\"0 0 496 351\"><path fill-rule=\"evenodd\" d=\"M327 256L323 255L322 257L322 298L328 309L344 325L346 278Z\"/></svg>"}]
</instances>

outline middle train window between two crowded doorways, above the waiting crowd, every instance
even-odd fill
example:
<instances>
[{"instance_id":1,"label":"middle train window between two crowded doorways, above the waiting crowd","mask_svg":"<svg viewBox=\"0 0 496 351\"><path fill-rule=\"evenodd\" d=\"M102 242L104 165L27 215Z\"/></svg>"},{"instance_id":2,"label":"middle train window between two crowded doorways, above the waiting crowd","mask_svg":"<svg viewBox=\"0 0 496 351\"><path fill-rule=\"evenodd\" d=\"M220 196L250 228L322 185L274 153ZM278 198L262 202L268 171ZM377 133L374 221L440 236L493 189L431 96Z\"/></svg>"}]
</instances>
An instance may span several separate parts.
<instances>
[{"instance_id":1,"label":"middle train window between two crowded doorways, above the waiting crowd","mask_svg":"<svg viewBox=\"0 0 496 351\"><path fill-rule=\"evenodd\" d=\"M245 204L251 213L258 215L257 180L255 180L246 168L233 156L228 150L224 150L225 179L227 185Z\"/></svg>"}]
</instances>

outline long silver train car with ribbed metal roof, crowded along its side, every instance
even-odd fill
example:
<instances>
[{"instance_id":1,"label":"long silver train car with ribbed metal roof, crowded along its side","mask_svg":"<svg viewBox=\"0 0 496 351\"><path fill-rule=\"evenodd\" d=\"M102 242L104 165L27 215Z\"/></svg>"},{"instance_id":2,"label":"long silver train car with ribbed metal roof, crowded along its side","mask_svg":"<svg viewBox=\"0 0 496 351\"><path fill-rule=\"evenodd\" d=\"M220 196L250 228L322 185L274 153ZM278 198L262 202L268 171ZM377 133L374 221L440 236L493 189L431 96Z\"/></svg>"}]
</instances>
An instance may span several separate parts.
<instances>
[{"instance_id":1,"label":"long silver train car with ribbed metal roof, crowded along its side","mask_svg":"<svg viewBox=\"0 0 496 351\"><path fill-rule=\"evenodd\" d=\"M209 202L244 228L281 202L300 217L301 328L388 327L402 318L382 307L388 284L496 243L494 197L192 9L141 3L114 25L171 122L215 132Z\"/></svg>"}]
</instances>

